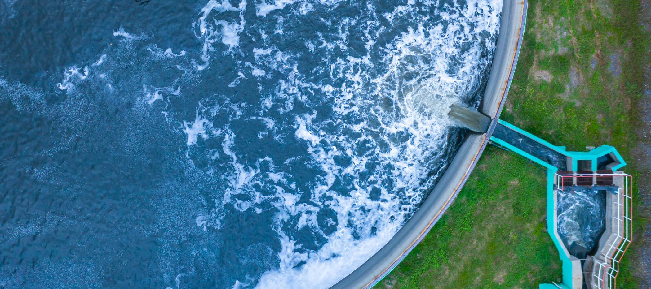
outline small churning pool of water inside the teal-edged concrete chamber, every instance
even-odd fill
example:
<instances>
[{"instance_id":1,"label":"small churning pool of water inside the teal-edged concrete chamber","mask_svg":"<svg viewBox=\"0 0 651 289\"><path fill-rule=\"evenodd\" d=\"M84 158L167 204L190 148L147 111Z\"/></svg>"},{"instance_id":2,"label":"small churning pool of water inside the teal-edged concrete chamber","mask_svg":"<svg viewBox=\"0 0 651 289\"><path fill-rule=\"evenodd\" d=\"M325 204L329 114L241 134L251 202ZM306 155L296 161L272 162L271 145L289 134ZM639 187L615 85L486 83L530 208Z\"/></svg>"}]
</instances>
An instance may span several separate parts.
<instances>
[{"instance_id":1,"label":"small churning pool of water inside the teal-edged concrete chamber","mask_svg":"<svg viewBox=\"0 0 651 289\"><path fill-rule=\"evenodd\" d=\"M576 257L585 258L605 231L605 191L561 190L558 197L559 236Z\"/></svg>"}]
</instances>

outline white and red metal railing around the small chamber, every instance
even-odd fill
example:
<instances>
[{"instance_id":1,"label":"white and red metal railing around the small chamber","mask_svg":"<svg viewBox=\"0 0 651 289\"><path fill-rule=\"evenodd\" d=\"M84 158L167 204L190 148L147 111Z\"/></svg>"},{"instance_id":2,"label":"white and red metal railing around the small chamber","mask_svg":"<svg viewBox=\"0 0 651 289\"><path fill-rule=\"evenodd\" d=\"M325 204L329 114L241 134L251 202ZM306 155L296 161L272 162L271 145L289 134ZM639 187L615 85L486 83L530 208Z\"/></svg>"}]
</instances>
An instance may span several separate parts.
<instances>
[{"instance_id":1,"label":"white and red metal railing around the small chamber","mask_svg":"<svg viewBox=\"0 0 651 289\"><path fill-rule=\"evenodd\" d=\"M633 189L633 177L622 172L556 175L557 187L562 190L563 179L566 177L622 177L622 185L618 185L617 197L613 202L613 210L616 210L616 217L613 218L613 232L615 236L604 245L599 251L599 256L594 256L590 285L592 289L615 289L616 278L619 273L619 263L631 244L633 236L633 206L631 191ZM610 238L609 238L610 239Z\"/></svg>"}]
</instances>

